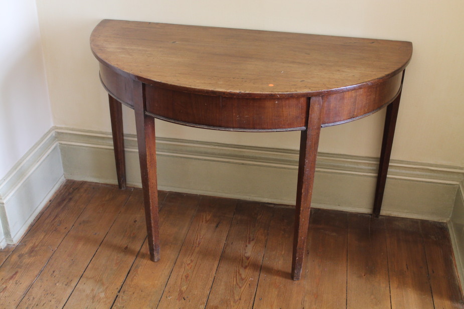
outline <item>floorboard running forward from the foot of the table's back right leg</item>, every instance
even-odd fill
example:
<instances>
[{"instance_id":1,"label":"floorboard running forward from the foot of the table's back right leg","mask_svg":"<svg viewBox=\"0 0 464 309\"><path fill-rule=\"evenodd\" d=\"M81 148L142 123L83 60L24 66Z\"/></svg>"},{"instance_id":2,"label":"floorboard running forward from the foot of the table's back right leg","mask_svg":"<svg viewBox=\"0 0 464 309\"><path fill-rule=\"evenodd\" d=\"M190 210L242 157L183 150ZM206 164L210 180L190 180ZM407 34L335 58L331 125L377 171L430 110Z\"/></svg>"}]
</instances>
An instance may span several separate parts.
<instances>
[{"instance_id":1,"label":"floorboard running forward from the foot of the table's back right leg","mask_svg":"<svg viewBox=\"0 0 464 309\"><path fill-rule=\"evenodd\" d=\"M384 218L348 214L347 309L390 309Z\"/></svg>"}]
</instances>

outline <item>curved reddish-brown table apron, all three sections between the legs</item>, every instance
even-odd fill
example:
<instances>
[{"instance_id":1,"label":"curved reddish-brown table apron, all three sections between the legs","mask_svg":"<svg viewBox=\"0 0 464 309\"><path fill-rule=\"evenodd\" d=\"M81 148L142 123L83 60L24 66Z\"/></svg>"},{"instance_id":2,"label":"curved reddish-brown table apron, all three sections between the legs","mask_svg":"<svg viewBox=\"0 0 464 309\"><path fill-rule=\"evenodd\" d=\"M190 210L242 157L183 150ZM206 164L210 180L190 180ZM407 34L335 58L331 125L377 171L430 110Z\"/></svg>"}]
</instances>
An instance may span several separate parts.
<instances>
[{"instance_id":1,"label":"curved reddish-brown table apron, all three sections between the legs","mask_svg":"<svg viewBox=\"0 0 464 309\"><path fill-rule=\"evenodd\" d=\"M325 95L322 126L370 115L392 102L401 91L402 72L377 84ZM100 79L108 93L133 108L131 78L101 64ZM145 112L153 117L195 127L233 131L290 131L307 127L306 97L240 98L202 95L144 85Z\"/></svg>"}]
</instances>

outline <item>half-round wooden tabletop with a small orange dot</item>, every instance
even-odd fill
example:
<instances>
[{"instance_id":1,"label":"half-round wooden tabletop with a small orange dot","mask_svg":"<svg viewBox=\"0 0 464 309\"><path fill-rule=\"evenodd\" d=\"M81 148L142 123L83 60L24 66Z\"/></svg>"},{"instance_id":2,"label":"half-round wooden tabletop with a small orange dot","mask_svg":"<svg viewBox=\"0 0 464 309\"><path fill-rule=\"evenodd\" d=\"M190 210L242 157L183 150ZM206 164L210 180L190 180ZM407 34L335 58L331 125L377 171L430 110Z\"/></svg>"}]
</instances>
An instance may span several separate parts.
<instances>
[{"instance_id":1,"label":"half-round wooden tabletop with a small orange dot","mask_svg":"<svg viewBox=\"0 0 464 309\"><path fill-rule=\"evenodd\" d=\"M371 86L408 64L402 41L103 20L91 49L120 74L173 90L310 97Z\"/></svg>"}]
</instances>

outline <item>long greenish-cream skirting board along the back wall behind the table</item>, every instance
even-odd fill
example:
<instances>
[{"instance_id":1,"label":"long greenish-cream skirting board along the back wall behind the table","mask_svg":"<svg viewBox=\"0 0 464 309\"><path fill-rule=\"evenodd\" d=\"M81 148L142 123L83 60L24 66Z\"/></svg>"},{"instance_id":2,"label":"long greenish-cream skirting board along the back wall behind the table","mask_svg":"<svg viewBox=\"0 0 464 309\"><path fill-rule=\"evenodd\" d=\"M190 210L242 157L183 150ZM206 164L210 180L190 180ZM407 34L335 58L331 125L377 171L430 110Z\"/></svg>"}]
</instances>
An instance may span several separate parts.
<instances>
[{"instance_id":1,"label":"long greenish-cream skirting board along the back wall behind the table","mask_svg":"<svg viewBox=\"0 0 464 309\"><path fill-rule=\"evenodd\" d=\"M56 128L66 179L116 183L111 134ZM140 187L136 138L126 134L128 185ZM294 205L298 151L157 138L161 190ZM378 159L319 153L313 207L369 213ZM462 168L392 160L383 215L447 221Z\"/></svg>"}]
</instances>

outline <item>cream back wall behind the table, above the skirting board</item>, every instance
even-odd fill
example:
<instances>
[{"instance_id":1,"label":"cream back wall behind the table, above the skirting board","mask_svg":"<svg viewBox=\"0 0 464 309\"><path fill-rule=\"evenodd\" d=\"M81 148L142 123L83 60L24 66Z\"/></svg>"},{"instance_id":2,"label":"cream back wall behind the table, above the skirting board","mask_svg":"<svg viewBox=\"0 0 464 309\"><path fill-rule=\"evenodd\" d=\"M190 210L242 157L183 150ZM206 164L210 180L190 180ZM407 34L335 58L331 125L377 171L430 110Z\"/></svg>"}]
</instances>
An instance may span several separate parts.
<instances>
[{"instance_id":1,"label":"cream back wall behind the table, above the skirting board","mask_svg":"<svg viewBox=\"0 0 464 309\"><path fill-rule=\"evenodd\" d=\"M110 131L89 36L101 19L370 37L413 42L392 159L464 167L461 0L37 2L53 121ZM384 112L322 130L320 151L376 157ZM135 133L124 109L125 131ZM158 121L159 136L295 149L298 133L216 132Z\"/></svg>"}]
</instances>

